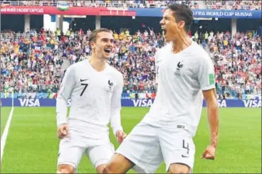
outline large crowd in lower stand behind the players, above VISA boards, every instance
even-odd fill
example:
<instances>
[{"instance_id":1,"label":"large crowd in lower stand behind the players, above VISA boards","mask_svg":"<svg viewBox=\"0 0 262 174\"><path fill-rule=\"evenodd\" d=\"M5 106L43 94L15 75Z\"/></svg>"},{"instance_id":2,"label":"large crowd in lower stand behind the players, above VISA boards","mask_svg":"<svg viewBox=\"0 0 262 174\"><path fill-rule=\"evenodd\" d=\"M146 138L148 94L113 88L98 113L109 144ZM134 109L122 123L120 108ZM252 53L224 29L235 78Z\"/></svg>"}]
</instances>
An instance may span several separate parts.
<instances>
[{"instance_id":1,"label":"large crowd in lower stand behind the players, above VISA boards","mask_svg":"<svg viewBox=\"0 0 262 174\"><path fill-rule=\"evenodd\" d=\"M90 56L91 31L31 30L30 33L2 33L1 92L58 91L63 62L70 64ZM154 53L164 45L161 33L129 31L114 33L114 49L109 60L124 75L123 93L152 93ZM252 32L194 33L192 37L210 53L216 70L216 89L220 97L241 98L241 94L261 94L261 37Z\"/></svg>"}]
</instances>

